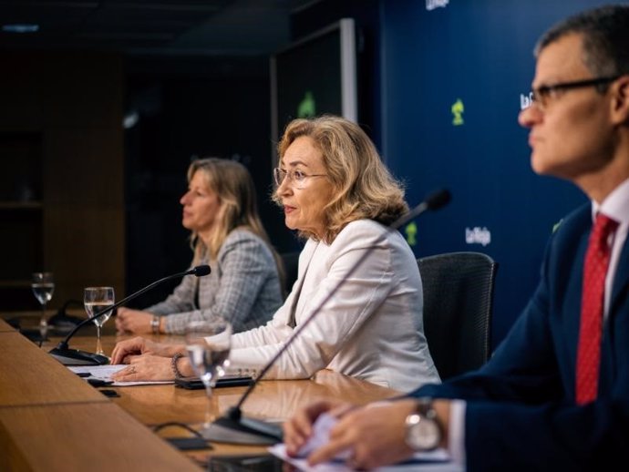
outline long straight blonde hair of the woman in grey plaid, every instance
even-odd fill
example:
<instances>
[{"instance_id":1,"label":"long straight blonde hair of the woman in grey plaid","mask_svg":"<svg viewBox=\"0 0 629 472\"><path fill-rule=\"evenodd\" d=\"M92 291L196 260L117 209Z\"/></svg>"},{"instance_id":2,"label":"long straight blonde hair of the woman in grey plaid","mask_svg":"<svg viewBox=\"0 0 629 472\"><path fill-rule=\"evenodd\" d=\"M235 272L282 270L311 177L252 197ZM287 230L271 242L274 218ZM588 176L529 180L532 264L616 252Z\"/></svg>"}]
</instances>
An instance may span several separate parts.
<instances>
[{"instance_id":1,"label":"long straight blonde hair of the woman in grey plaid","mask_svg":"<svg viewBox=\"0 0 629 472\"><path fill-rule=\"evenodd\" d=\"M266 242L273 253L280 277L283 278L284 268L280 256L273 249L258 215L255 187L249 171L234 160L205 158L191 162L187 175L189 183L197 172L201 172L206 188L218 196L221 210L217 215L218 224L214 226L207 245L197 231L191 231L191 248L194 251L192 264L198 264L206 255L211 260L216 260L229 233L235 229L243 229L253 232Z\"/></svg>"}]
</instances>

